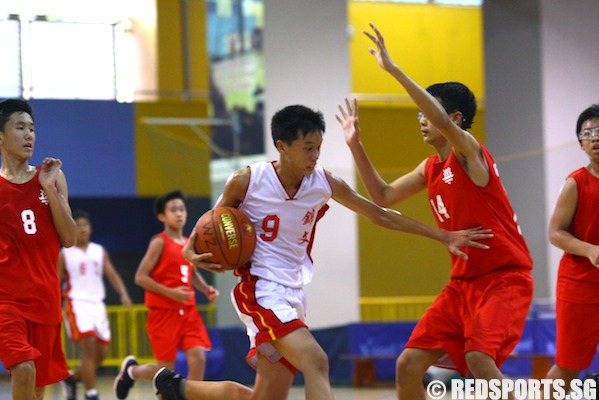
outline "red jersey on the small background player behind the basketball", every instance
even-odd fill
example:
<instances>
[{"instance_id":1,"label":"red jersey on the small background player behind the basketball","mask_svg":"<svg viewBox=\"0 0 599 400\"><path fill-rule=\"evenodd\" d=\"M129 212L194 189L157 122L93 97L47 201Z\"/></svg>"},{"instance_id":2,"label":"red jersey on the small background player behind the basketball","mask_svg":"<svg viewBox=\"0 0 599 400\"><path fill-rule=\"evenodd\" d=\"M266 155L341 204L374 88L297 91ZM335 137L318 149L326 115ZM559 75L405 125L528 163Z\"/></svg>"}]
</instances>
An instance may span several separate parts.
<instances>
[{"instance_id":1,"label":"red jersey on the small background player behind the basketball","mask_svg":"<svg viewBox=\"0 0 599 400\"><path fill-rule=\"evenodd\" d=\"M150 277L156 282L171 288L187 286L194 295L187 302L179 303L168 297L146 290L146 306L168 309L180 309L183 306L195 306L195 290L191 285L193 266L191 266L191 264L183 258L183 254L181 254L183 245L175 242L164 232L159 233L157 236L160 236L164 241L164 247L158 262L150 273ZM185 238L185 240L187 240L187 238Z\"/></svg>"}]
</instances>

